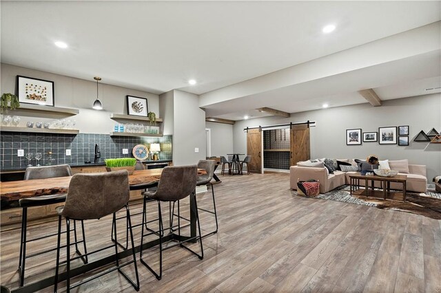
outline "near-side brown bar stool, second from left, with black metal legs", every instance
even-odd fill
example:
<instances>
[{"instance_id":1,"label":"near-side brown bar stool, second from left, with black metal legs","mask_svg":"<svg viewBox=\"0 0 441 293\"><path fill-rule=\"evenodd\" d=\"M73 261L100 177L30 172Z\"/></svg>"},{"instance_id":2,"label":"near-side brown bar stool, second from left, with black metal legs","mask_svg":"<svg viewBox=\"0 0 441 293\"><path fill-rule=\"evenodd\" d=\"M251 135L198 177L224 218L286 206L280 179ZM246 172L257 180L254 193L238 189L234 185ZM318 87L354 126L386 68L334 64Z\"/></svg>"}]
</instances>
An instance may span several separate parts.
<instances>
[{"instance_id":1,"label":"near-side brown bar stool, second from left, with black metal legs","mask_svg":"<svg viewBox=\"0 0 441 293\"><path fill-rule=\"evenodd\" d=\"M158 189L156 191L147 191L144 193L144 197L148 199L156 200L158 204L158 218L159 218L159 230L156 232L150 232L145 234L144 225L141 232L141 252L139 253L139 258L141 263L145 265L145 267L152 272L152 274L156 277L156 279L161 280L163 274L163 250L167 250L174 246L181 246L185 248L189 252L195 254L199 259L203 259L204 251L202 245L202 237L201 237L201 225L199 223L198 217L198 206L196 203L196 178L197 178L197 166L167 166L163 169L161 174L161 179L158 183ZM178 217L178 235L174 235L176 237L172 237L172 241L177 241L173 245L163 247L163 237L165 235L165 229L163 226L163 217L161 211L161 202L170 203L178 203L178 215L179 215L179 201L184 199L185 197L191 196L194 200L195 204L195 214L196 214L196 222L198 224L198 235L192 237L181 237L181 218ZM171 224L171 223L170 223ZM171 229L170 227L169 229ZM145 260L143 259L143 239L148 235L156 234L159 237L159 272L153 270L150 265L147 265ZM169 236L169 235L167 235ZM187 246L184 246L183 243L188 241L200 241L201 246L201 254L198 254L194 250L191 250Z\"/></svg>"}]
</instances>

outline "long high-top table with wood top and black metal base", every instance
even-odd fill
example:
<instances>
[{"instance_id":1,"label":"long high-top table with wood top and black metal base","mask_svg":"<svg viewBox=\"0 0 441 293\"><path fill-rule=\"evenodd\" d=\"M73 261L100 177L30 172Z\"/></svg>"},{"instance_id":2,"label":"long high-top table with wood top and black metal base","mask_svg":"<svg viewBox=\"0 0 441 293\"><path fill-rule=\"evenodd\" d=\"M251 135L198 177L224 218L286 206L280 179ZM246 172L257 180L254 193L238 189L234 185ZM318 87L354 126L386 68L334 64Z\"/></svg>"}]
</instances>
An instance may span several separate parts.
<instances>
[{"instance_id":1,"label":"long high-top table with wood top and black metal base","mask_svg":"<svg viewBox=\"0 0 441 293\"><path fill-rule=\"evenodd\" d=\"M132 175L129 175L129 185L130 186L140 186L143 184L153 184L154 182L158 182L161 179L161 173L163 169L147 169L134 171ZM198 169L198 175L206 174L207 172L204 169ZM10 182L1 182L1 190L0 190L0 198L5 201L14 201L21 198L26 197L38 197L40 195L51 195L57 193L67 193L69 189L70 180L72 176L66 177L55 177L48 179L37 179L37 180L19 180L19 181L10 181ZM193 197L190 197L190 237L196 236L196 204L194 202ZM178 238L178 235L167 235L164 238L164 241L168 241L170 239ZM56 241L54 244L56 245ZM151 248L153 246L158 245L159 240L153 240L146 243L143 243L142 249ZM18 249L19 246L17 246ZM141 245L136 246L135 251L139 252L141 250ZM119 259L123 259L124 257L129 257L132 255L131 250L123 250L118 253ZM96 268L100 268L103 265L107 265L108 263L112 263L115 261L115 256L111 255L109 257L104 257L103 259L98 259L93 262L89 262L88 264L81 265L78 268L73 268L70 271L70 277L78 276L79 274L83 274L85 272L89 272L90 270L94 270ZM55 263L55 261L54 261ZM66 274L62 272L59 274L59 282L65 281ZM29 283L24 285L23 287L19 287L14 292L35 292L41 290L45 287L49 287L50 285L54 285L54 276L50 276L49 278L42 279L36 281L34 283Z\"/></svg>"}]
</instances>

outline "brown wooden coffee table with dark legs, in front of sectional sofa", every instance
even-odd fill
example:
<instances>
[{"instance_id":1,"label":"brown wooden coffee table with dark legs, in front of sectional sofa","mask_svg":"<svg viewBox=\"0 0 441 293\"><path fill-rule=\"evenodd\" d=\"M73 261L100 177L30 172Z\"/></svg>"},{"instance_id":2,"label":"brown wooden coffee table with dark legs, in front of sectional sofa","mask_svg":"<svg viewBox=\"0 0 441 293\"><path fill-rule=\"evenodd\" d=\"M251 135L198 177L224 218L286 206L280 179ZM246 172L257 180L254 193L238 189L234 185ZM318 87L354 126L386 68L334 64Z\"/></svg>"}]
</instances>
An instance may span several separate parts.
<instances>
[{"instance_id":1,"label":"brown wooden coffee table with dark legs, in front of sectional sofa","mask_svg":"<svg viewBox=\"0 0 441 293\"><path fill-rule=\"evenodd\" d=\"M360 188L360 181L365 180L364 189ZM382 197L386 200L388 197L395 199L396 195L401 195L403 202L406 202L406 180L404 175L396 175L394 177L381 177L378 175L349 175L351 195L365 195L366 198ZM381 191L375 190L375 182L380 182ZM371 182L371 186L369 186ZM402 184L402 192L391 191L391 182L398 182ZM370 190L369 190L370 187Z\"/></svg>"}]
</instances>

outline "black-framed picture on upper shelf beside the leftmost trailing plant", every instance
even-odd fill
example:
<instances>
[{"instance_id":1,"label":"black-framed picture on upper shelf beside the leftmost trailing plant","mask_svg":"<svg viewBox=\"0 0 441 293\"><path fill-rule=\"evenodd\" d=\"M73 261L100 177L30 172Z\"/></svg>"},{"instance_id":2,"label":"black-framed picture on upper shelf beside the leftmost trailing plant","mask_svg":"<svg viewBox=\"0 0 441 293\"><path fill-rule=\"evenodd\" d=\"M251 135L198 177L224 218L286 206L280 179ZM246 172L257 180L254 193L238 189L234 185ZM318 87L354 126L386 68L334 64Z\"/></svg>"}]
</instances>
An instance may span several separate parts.
<instances>
[{"instance_id":1,"label":"black-framed picture on upper shelf beside the leftmost trailing plant","mask_svg":"<svg viewBox=\"0 0 441 293\"><path fill-rule=\"evenodd\" d=\"M17 96L25 104L54 107L54 82L17 75Z\"/></svg>"}]
</instances>

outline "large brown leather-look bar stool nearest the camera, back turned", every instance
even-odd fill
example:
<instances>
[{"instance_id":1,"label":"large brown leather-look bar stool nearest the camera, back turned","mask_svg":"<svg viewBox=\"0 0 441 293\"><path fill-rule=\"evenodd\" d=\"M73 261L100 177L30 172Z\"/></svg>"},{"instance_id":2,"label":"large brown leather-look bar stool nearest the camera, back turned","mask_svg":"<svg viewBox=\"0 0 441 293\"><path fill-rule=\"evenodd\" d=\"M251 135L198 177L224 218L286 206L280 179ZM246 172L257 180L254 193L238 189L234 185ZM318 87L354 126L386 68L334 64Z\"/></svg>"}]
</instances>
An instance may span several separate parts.
<instances>
[{"instance_id":1,"label":"large brown leather-look bar stool nearest the camera, back turned","mask_svg":"<svg viewBox=\"0 0 441 293\"><path fill-rule=\"evenodd\" d=\"M58 241L57 241L57 267L55 268L54 292L57 292L57 285L59 281L59 266L60 266L60 250L61 250L61 219L65 218L67 229L66 235L66 290L78 287L79 285L92 281L104 274L118 270L120 274L139 291L139 275L138 267L136 266L135 248L133 241L132 222L130 220L130 210L128 202L130 199L129 190L129 173L126 170L107 172L107 173L89 173L89 174L75 174L70 180L68 194L66 195L65 205L57 208L58 217ZM125 208L127 222L129 224L130 241L132 244L132 257L130 261L120 263L118 256L118 245L116 243L116 212ZM88 220L101 219L107 215L113 215L112 226L114 226L114 239L116 240L112 245L105 246L98 250L88 252L87 255L101 252L103 250L114 248L115 250L115 266L109 268L104 272L99 272L96 276L91 276L88 279L79 281L74 285L70 285L70 262L79 257L70 257L70 220ZM136 276L136 283L125 274L121 268L126 265L134 265Z\"/></svg>"}]
</instances>

